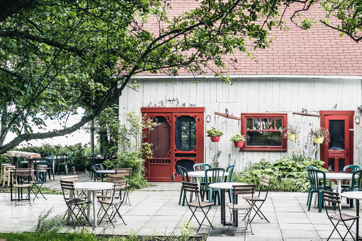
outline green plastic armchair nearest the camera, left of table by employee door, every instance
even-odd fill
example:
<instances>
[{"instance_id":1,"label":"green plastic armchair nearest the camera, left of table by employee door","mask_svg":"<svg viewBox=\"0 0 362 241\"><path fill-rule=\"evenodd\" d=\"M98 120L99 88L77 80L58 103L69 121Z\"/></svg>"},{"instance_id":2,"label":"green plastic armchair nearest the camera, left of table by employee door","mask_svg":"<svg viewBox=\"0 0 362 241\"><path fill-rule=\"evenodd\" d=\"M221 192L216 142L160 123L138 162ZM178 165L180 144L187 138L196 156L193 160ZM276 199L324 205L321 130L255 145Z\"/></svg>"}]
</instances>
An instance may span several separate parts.
<instances>
[{"instance_id":1,"label":"green plastic armchair nearest the camera, left of table by employee door","mask_svg":"<svg viewBox=\"0 0 362 241\"><path fill-rule=\"evenodd\" d=\"M318 212L322 211L322 206L323 206L323 202L322 202L322 190L325 191L332 191L331 188L327 188L327 186L325 185L325 172L320 171L320 170L316 170L316 169L308 169L308 176L309 176L309 182L311 184L311 189L309 191L309 203L308 203L308 211L311 210L311 205L312 205L312 197L313 197L313 193L317 193L318 194ZM323 180L321 180L321 186L319 185L319 178L318 178L318 174L321 174L323 176ZM322 179L322 178L320 178Z\"/></svg>"}]
</instances>

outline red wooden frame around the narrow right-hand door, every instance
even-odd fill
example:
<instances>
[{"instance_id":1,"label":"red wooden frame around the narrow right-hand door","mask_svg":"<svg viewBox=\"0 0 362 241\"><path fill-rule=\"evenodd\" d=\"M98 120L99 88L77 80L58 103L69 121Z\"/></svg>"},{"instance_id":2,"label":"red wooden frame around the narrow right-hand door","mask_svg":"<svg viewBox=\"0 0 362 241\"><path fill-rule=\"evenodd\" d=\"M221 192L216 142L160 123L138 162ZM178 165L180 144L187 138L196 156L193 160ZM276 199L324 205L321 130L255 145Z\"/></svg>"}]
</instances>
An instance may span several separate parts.
<instances>
[{"instance_id":1,"label":"red wooden frame around the narrow right-hand door","mask_svg":"<svg viewBox=\"0 0 362 241\"><path fill-rule=\"evenodd\" d=\"M348 163L349 165L353 165L353 150L354 150L354 142L353 142L353 136L354 136L354 111L319 111L320 115L320 126L325 127L325 117L332 115L349 115L349 156L348 156ZM325 145L327 144L320 144L320 159L323 160L328 165L328 155L325 153ZM334 168L338 171L338 167Z\"/></svg>"}]
</instances>

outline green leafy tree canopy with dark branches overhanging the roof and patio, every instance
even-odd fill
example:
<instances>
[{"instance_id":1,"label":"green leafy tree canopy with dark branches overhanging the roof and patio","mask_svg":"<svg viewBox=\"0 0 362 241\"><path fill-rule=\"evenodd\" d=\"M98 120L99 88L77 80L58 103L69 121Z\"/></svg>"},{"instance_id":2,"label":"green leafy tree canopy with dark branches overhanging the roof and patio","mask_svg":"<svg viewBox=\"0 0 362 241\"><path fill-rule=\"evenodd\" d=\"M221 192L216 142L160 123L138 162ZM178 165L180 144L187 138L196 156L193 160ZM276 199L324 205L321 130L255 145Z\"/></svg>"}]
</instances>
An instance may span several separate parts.
<instances>
[{"instance_id":1,"label":"green leafy tree canopy with dark branches overhanging the roof and patio","mask_svg":"<svg viewBox=\"0 0 362 241\"><path fill-rule=\"evenodd\" d=\"M168 18L170 1L161 0L0 0L0 154L25 140L74 132L116 103L125 87L137 89L132 77L138 73L203 74L214 64L215 76L230 83L223 56L247 52L247 45L268 47L268 31L283 28L283 11L293 2L202 0ZM338 18L334 27L359 40L361 1L297 2L304 3L302 11L319 3L326 25L332 24L328 16ZM159 31L143 27L150 16ZM83 118L67 126L78 107ZM32 126L46 128L48 118L63 125L33 133ZM17 137L3 145L9 131Z\"/></svg>"}]
</instances>

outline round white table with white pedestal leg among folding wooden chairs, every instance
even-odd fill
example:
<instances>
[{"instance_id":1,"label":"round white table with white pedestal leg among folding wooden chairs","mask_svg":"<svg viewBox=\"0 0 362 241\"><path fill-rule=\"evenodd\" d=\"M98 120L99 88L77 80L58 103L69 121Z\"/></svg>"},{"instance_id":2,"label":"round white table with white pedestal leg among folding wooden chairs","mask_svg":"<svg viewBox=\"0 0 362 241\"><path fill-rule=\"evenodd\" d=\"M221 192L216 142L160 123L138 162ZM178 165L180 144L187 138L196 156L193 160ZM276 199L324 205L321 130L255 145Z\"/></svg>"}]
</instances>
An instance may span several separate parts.
<instances>
[{"instance_id":1,"label":"round white table with white pedestal leg among folding wooden chairs","mask_svg":"<svg viewBox=\"0 0 362 241\"><path fill-rule=\"evenodd\" d=\"M112 192L113 183L110 182L75 182L74 190L87 191L88 201L90 201L90 194L92 193L93 202L93 218L94 226L97 227L97 191L110 190ZM111 194L112 195L112 194ZM73 200L73 192L70 191L69 200ZM68 210L68 214L71 214L71 210ZM90 203L88 204L87 217L90 216Z\"/></svg>"}]
</instances>

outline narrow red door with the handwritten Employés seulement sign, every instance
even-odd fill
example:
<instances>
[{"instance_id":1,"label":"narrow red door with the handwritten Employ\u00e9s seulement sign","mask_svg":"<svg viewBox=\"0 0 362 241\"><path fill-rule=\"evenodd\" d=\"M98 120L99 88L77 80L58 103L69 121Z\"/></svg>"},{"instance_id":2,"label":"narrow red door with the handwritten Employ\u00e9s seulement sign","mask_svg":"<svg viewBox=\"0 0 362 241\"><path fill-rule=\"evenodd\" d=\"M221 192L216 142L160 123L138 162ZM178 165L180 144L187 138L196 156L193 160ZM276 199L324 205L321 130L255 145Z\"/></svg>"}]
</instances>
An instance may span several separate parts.
<instances>
[{"instance_id":1,"label":"narrow red door with the handwritten Employ\u00e9s seulement sign","mask_svg":"<svg viewBox=\"0 0 362 241\"><path fill-rule=\"evenodd\" d=\"M322 147L324 168L331 172L343 172L343 168L349 165L349 118L349 115L325 116L324 127L329 130L330 142Z\"/></svg>"}]
</instances>

